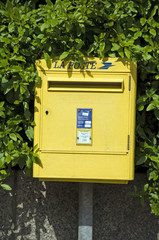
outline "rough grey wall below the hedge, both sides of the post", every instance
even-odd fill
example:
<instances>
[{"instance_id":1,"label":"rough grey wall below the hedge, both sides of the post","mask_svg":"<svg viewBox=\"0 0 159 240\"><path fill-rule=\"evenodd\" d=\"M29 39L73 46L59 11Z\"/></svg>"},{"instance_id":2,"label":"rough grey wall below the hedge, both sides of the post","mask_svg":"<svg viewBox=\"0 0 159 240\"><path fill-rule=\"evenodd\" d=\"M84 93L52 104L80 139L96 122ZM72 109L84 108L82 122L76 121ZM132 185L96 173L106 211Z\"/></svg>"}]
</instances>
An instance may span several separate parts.
<instances>
[{"instance_id":1,"label":"rough grey wall below the hedge, both sides of the post","mask_svg":"<svg viewBox=\"0 0 159 240\"><path fill-rule=\"evenodd\" d=\"M94 184L93 240L157 240L159 218L129 195L144 181L136 174L128 185ZM0 189L0 240L77 240L78 183L39 182L22 171L8 183L13 191Z\"/></svg>"}]
</instances>

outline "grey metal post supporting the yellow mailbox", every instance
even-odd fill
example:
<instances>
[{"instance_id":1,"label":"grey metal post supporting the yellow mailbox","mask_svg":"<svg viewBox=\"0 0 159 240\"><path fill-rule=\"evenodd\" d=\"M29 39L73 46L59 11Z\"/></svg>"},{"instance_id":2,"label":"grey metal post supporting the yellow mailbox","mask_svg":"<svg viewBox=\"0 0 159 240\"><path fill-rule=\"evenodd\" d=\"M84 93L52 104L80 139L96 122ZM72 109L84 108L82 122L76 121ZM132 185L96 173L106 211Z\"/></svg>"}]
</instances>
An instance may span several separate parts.
<instances>
[{"instance_id":1,"label":"grey metal post supporting the yellow mailbox","mask_svg":"<svg viewBox=\"0 0 159 240\"><path fill-rule=\"evenodd\" d=\"M93 239L93 184L79 183L78 240Z\"/></svg>"}]
</instances>

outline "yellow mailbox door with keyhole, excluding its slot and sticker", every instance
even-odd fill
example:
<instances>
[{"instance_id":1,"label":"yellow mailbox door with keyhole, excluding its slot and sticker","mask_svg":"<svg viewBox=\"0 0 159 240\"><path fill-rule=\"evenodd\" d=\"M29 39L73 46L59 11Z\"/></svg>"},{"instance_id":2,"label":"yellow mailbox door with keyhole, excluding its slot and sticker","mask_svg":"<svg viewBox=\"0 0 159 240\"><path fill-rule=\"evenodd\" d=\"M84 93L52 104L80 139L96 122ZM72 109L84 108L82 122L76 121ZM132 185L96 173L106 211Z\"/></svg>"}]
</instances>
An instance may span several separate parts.
<instances>
[{"instance_id":1,"label":"yellow mailbox door with keyhole, excluding its slot and sticker","mask_svg":"<svg viewBox=\"0 0 159 240\"><path fill-rule=\"evenodd\" d=\"M116 76L112 77L114 80ZM110 75L105 75L105 81L107 78ZM41 150L127 152L129 76L121 75L120 78L123 79L124 92L114 90L102 93L85 92L82 89L70 92L65 91L64 87L63 91L48 92L45 78L42 89ZM78 108L91 108L93 111L91 146L77 145Z\"/></svg>"}]
</instances>

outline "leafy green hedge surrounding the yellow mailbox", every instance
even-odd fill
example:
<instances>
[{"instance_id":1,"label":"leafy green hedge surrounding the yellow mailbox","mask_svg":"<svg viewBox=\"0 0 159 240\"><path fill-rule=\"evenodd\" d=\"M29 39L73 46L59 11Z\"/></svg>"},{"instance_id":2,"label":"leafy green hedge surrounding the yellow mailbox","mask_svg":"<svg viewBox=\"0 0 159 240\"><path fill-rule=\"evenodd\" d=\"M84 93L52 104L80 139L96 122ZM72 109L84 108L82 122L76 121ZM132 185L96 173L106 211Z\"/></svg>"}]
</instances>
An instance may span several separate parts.
<instances>
[{"instance_id":1,"label":"leafy green hedge surrounding the yellow mailbox","mask_svg":"<svg viewBox=\"0 0 159 240\"><path fill-rule=\"evenodd\" d=\"M5 1L4 1L5 2ZM43 2L43 1L42 1ZM147 169L141 201L159 215L158 0L0 2L0 181L14 167L39 163L33 153L35 60L59 56L127 57L138 65L136 166Z\"/></svg>"}]
</instances>

